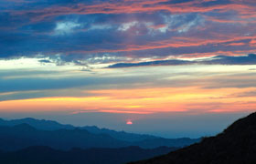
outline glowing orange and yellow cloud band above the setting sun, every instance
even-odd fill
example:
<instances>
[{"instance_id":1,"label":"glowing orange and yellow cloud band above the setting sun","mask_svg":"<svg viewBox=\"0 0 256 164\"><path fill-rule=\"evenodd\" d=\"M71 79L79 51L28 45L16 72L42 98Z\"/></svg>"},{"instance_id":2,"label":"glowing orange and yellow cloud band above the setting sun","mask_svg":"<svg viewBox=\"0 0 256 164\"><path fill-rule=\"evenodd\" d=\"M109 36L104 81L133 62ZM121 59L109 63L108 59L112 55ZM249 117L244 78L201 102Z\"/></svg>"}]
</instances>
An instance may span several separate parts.
<instances>
[{"instance_id":1,"label":"glowing orange and yellow cloud band above the setting sun","mask_svg":"<svg viewBox=\"0 0 256 164\"><path fill-rule=\"evenodd\" d=\"M251 90L256 88L159 87L92 90L87 92L93 94L93 97L41 97L1 101L0 112L239 112L245 109L255 110L254 96L240 96L240 93Z\"/></svg>"}]
</instances>

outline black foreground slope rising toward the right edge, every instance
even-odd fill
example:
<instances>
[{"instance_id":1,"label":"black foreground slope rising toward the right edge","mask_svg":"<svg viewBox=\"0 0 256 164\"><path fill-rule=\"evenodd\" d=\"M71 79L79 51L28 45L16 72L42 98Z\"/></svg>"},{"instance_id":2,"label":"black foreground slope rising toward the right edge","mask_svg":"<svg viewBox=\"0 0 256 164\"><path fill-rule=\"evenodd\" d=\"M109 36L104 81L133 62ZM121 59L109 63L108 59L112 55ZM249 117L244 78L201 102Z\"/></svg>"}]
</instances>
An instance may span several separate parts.
<instances>
[{"instance_id":1,"label":"black foreground slope rising toward the right edge","mask_svg":"<svg viewBox=\"0 0 256 164\"><path fill-rule=\"evenodd\" d=\"M216 137L167 155L133 164L255 164L256 113L241 118Z\"/></svg>"}]
</instances>

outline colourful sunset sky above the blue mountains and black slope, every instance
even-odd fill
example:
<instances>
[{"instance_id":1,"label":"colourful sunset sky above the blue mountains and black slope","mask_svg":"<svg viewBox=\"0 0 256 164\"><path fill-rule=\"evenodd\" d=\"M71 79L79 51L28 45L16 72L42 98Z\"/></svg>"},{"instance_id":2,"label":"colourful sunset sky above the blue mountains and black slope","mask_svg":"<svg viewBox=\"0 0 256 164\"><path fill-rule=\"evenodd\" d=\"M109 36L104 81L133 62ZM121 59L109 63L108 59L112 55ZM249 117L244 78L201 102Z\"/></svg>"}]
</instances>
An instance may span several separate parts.
<instances>
[{"instance_id":1,"label":"colourful sunset sky above the blue mountains and black slope","mask_svg":"<svg viewBox=\"0 0 256 164\"><path fill-rule=\"evenodd\" d=\"M255 0L0 1L1 118L198 138L255 107Z\"/></svg>"}]
</instances>

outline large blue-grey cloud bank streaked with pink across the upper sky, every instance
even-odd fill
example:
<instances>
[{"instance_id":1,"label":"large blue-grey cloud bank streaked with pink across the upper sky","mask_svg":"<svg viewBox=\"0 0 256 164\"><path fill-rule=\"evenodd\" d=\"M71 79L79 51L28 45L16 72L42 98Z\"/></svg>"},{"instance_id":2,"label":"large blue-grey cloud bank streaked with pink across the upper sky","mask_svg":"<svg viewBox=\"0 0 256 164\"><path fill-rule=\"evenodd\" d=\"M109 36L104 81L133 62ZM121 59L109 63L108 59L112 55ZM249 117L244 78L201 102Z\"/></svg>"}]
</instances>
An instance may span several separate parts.
<instances>
[{"instance_id":1,"label":"large blue-grey cloud bank streaked with pink across the upper sky","mask_svg":"<svg viewBox=\"0 0 256 164\"><path fill-rule=\"evenodd\" d=\"M61 66L255 53L251 1L23 2L3 6L1 58L58 55Z\"/></svg>"}]
</instances>

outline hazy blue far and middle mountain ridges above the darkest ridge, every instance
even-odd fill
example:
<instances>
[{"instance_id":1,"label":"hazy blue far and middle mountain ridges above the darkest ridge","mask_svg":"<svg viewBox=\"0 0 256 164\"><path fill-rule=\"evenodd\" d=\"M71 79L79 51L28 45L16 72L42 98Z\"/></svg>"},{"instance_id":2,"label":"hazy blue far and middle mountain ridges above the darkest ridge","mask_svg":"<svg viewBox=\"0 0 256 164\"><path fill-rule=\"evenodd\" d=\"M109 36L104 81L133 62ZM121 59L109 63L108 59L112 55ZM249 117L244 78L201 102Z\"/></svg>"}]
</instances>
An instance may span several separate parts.
<instances>
[{"instance_id":1,"label":"hazy blue far and middle mountain ridges above the darkest ridge","mask_svg":"<svg viewBox=\"0 0 256 164\"><path fill-rule=\"evenodd\" d=\"M2 126L1 126L2 125ZM50 126L52 125L52 127ZM40 128L40 129L37 129ZM0 149L17 150L30 146L48 146L52 149L68 150L74 147L81 149L90 148L122 148L139 146L144 149L157 147L182 148L199 141L191 138L145 138L146 135L131 133L131 136L140 138L137 141L119 139L120 136L129 136L130 133L117 132L114 130L101 130L92 133L85 128L75 128L70 125L61 125L55 121L37 120L33 118L18 119L12 121L0 121ZM104 133L104 131L107 131ZM117 138L108 132L114 131L121 134ZM128 138L128 137L127 137ZM144 139L142 139L144 138ZM133 139L132 139L133 140Z\"/></svg>"}]
</instances>

